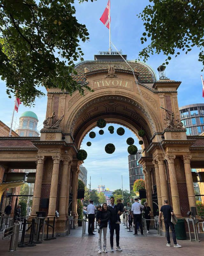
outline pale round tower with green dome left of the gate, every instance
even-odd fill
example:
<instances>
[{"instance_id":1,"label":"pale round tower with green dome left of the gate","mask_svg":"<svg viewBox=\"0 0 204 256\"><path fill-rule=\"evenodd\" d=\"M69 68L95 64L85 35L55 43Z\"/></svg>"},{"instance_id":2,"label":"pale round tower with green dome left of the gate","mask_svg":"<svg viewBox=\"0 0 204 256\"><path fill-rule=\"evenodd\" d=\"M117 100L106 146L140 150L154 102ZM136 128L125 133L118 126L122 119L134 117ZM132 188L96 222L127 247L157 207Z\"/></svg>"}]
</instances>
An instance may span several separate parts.
<instances>
[{"instance_id":1,"label":"pale round tower with green dome left of the gate","mask_svg":"<svg viewBox=\"0 0 204 256\"><path fill-rule=\"evenodd\" d=\"M38 137L40 135L37 130L38 117L32 111L25 111L20 116L20 122L16 133L21 137Z\"/></svg>"}]
</instances>

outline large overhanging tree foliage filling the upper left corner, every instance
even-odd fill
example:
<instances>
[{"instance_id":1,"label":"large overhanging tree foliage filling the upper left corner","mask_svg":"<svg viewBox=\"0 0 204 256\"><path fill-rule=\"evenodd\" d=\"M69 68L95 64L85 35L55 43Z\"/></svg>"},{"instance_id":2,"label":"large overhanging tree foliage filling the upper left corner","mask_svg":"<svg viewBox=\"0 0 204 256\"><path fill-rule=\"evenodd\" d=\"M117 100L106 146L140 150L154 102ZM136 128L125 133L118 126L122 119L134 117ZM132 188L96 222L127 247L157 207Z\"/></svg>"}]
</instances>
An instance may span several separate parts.
<instances>
[{"instance_id":1,"label":"large overhanging tree foliage filling the upper left corner","mask_svg":"<svg viewBox=\"0 0 204 256\"><path fill-rule=\"evenodd\" d=\"M88 0L79 0L84 2ZM93 0L91 0L93 1ZM70 76L74 61L83 60L79 40L89 39L77 22L74 0L0 0L0 76L6 93L25 106L44 95L39 86L72 94L91 90Z\"/></svg>"}]
</instances>

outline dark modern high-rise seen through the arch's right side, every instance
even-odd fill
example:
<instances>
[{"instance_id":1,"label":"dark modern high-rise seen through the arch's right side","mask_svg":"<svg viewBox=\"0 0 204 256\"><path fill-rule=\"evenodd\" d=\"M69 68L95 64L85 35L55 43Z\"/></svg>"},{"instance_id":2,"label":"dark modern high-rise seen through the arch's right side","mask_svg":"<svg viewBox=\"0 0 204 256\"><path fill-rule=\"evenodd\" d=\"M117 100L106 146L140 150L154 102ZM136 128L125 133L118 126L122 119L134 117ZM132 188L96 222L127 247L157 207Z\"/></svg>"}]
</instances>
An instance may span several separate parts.
<instances>
[{"instance_id":1,"label":"dark modern high-rise seen through the arch's right side","mask_svg":"<svg viewBox=\"0 0 204 256\"><path fill-rule=\"evenodd\" d=\"M133 189L135 180L144 179L142 165L138 163L141 152L142 150L138 150L137 154L128 156L130 191Z\"/></svg>"}]
</instances>

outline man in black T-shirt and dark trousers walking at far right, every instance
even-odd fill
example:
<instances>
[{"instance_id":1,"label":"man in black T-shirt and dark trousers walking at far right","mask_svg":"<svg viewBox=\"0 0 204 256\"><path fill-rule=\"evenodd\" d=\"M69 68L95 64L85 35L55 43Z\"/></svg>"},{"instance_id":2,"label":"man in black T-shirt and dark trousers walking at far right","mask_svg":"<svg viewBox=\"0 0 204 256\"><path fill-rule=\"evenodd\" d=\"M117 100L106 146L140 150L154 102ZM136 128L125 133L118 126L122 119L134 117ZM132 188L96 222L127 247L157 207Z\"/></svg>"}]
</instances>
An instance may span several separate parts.
<instances>
[{"instance_id":1,"label":"man in black T-shirt and dark trousers walking at far right","mask_svg":"<svg viewBox=\"0 0 204 256\"><path fill-rule=\"evenodd\" d=\"M171 228L171 232L172 232L172 238L173 238L173 247L181 247L181 245L177 244L176 241L176 232L175 232L175 228L174 228L174 224L171 222L171 215L173 216L173 210L171 205L168 204L168 200L165 199L164 200L164 205L162 205L160 212L159 212L159 223L161 222L161 214L163 212L163 217L164 217L164 225L165 225L165 229L166 229L166 240L167 240L167 244L166 246L171 246L171 242L170 242L170 235L169 235L169 227Z\"/></svg>"}]
</instances>

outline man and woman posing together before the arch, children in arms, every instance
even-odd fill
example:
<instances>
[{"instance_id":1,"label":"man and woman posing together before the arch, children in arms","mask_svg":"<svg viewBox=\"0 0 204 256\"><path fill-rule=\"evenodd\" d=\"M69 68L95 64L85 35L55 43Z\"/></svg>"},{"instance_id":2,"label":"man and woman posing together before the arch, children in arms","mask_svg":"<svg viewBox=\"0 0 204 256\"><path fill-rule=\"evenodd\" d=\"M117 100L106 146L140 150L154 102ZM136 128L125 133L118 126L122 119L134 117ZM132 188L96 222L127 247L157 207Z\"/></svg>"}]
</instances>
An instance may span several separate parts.
<instances>
[{"instance_id":1,"label":"man and woman posing together before the arch, children in arms","mask_svg":"<svg viewBox=\"0 0 204 256\"><path fill-rule=\"evenodd\" d=\"M102 230L103 230L103 251L107 252L106 249L106 234L107 234L107 227L108 227L108 221L109 221L109 229L110 229L110 244L111 244L111 252L114 252L113 250L113 235L114 230L116 234L116 250L122 251L122 249L119 246L119 239L120 239L120 225L117 222L117 214L121 215L121 211L117 210L116 204L114 204L115 199L114 197L110 198L111 203L107 205L104 203L102 205L102 214L100 220L96 219L98 221L98 224L102 224L103 228L99 229L98 233L98 253L101 253L101 236L102 236Z\"/></svg>"}]
</instances>

